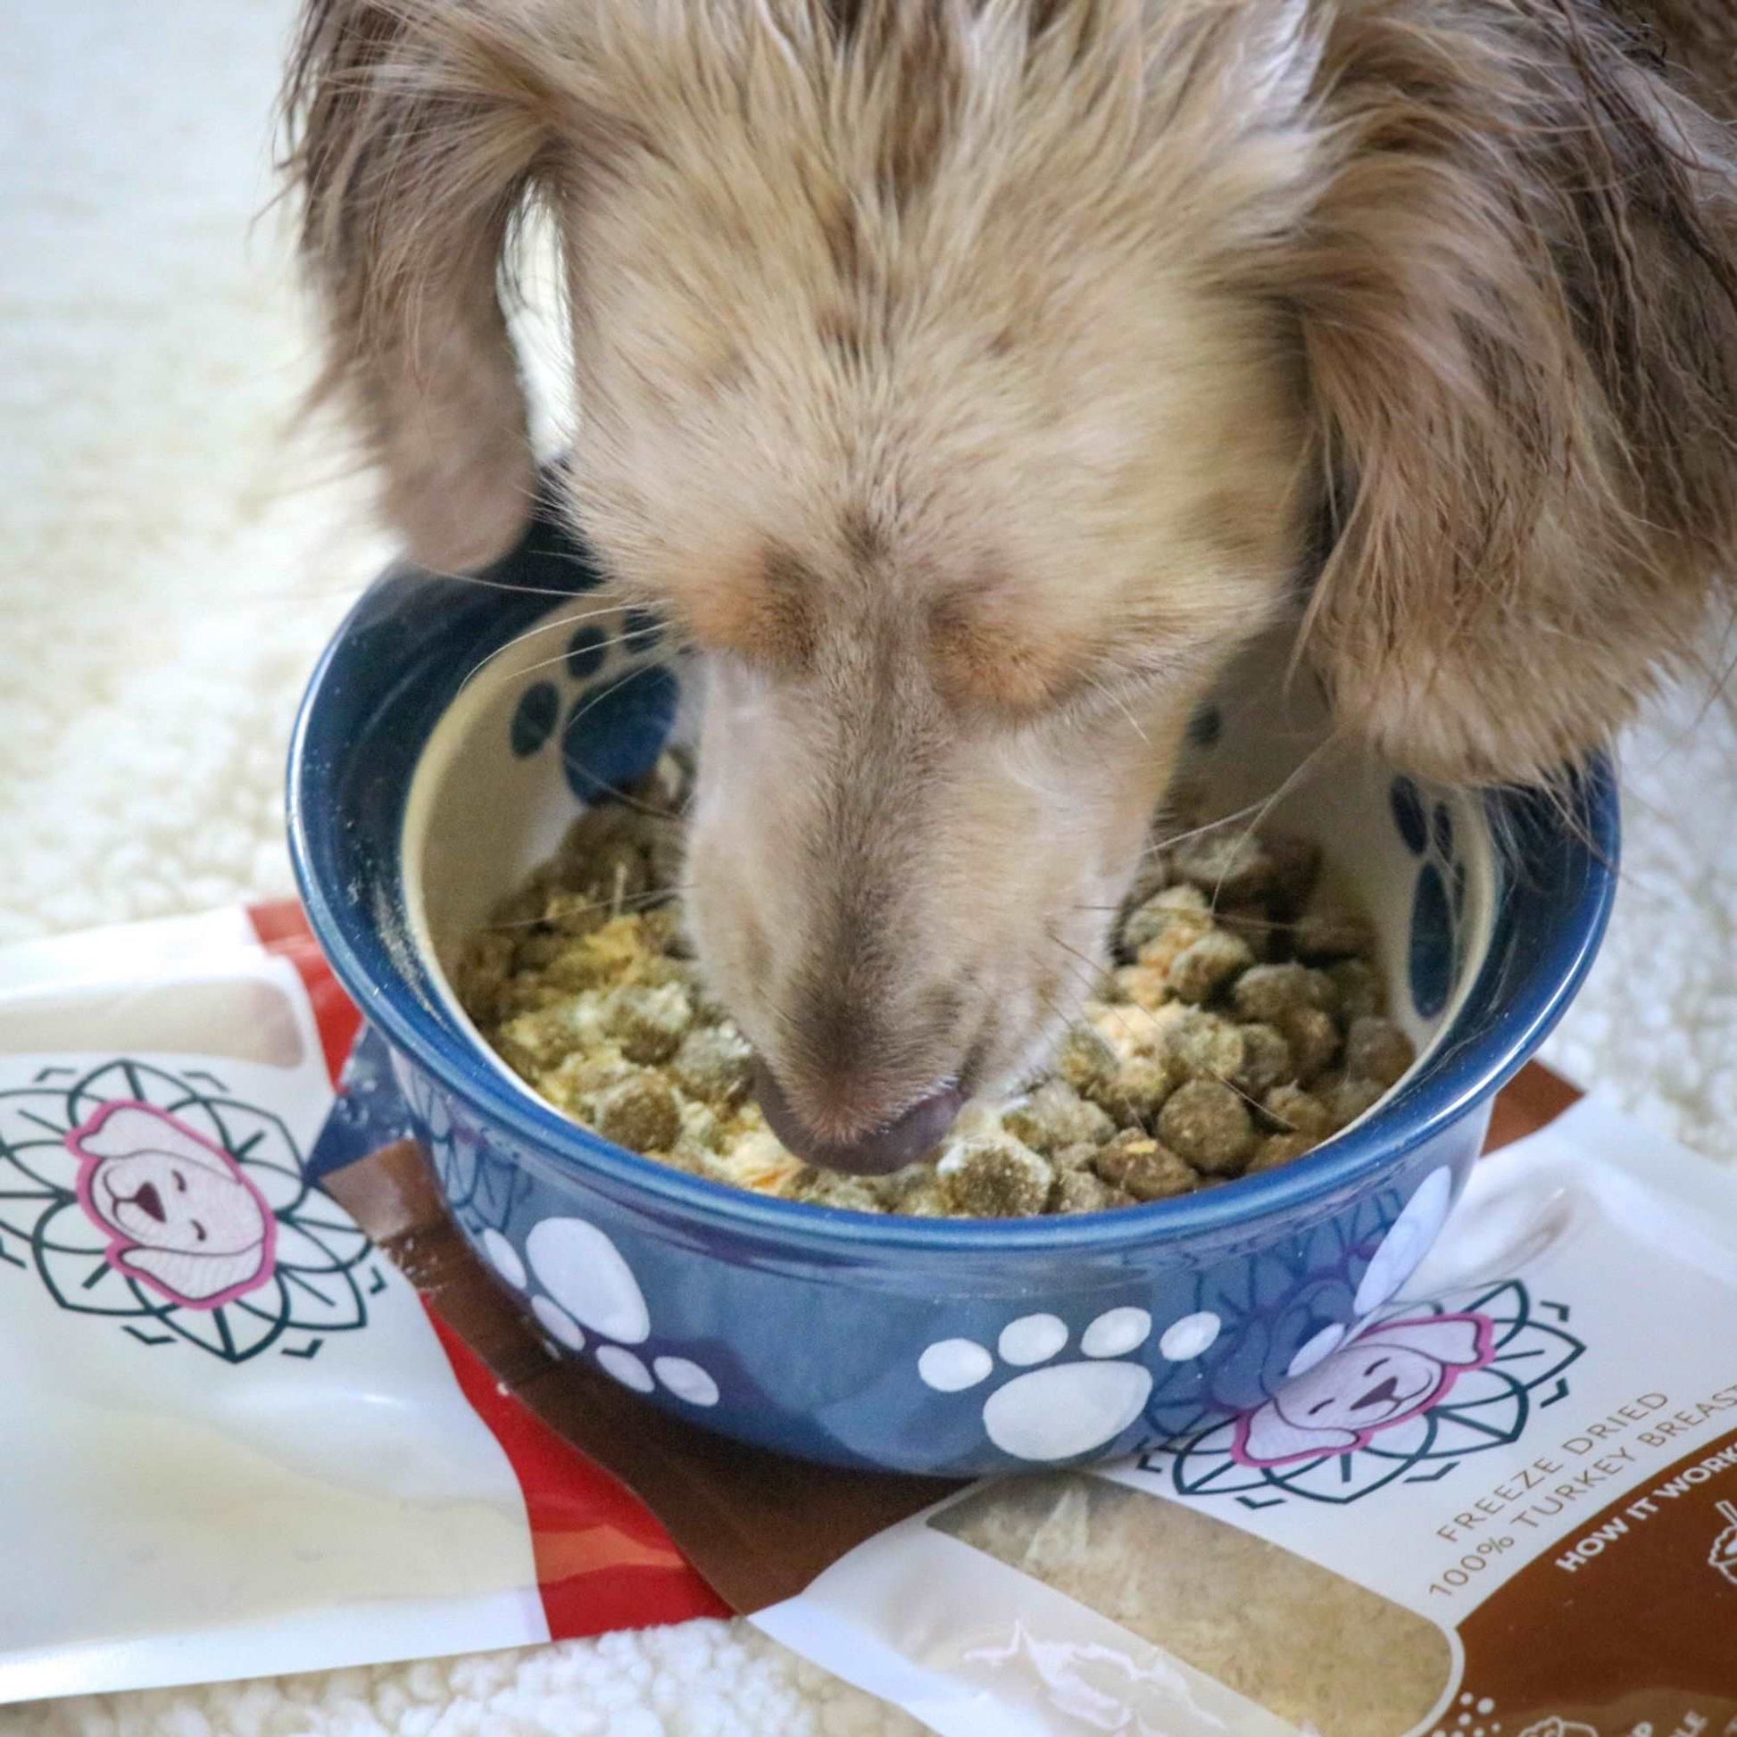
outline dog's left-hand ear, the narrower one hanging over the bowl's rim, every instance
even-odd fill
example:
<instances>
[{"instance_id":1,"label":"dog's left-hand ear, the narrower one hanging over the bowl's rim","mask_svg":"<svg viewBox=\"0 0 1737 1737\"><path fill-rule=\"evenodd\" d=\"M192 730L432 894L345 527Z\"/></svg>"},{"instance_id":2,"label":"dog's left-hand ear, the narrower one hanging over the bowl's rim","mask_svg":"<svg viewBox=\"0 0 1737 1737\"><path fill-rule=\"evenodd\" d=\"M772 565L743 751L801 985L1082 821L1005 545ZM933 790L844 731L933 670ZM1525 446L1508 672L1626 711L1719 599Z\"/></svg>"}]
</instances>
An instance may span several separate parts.
<instances>
[{"instance_id":1,"label":"dog's left-hand ear, the narrower one hanging over the bowl's rim","mask_svg":"<svg viewBox=\"0 0 1737 1737\"><path fill-rule=\"evenodd\" d=\"M339 398L426 566L504 554L535 481L502 254L552 99L493 9L307 0L283 94L301 252Z\"/></svg>"}]
</instances>

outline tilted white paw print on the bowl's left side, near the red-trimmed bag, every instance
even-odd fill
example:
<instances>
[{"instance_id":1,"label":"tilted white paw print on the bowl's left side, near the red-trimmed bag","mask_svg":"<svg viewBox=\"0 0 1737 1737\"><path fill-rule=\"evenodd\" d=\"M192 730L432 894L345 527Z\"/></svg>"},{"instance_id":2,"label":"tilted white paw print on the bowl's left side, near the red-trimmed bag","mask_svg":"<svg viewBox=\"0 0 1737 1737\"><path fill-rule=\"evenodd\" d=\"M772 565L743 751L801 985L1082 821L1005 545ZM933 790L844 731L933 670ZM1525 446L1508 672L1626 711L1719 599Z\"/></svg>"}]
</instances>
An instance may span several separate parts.
<instances>
[{"instance_id":1,"label":"tilted white paw print on the bowl's left side, near the red-trimmed bag","mask_svg":"<svg viewBox=\"0 0 1737 1737\"><path fill-rule=\"evenodd\" d=\"M622 1251L596 1225L582 1218L540 1219L525 1238L525 1259L499 1230L485 1230L481 1242L495 1271L514 1291L530 1294L532 1313L551 1339L584 1351L589 1332L603 1341L592 1351L598 1367L624 1388L664 1388L690 1405L717 1403L717 1383L691 1358L653 1357L646 1364L631 1350L651 1337L651 1313ZM538 1292L532 1292L532 1273Z\"/></svg>"}]
</instances>

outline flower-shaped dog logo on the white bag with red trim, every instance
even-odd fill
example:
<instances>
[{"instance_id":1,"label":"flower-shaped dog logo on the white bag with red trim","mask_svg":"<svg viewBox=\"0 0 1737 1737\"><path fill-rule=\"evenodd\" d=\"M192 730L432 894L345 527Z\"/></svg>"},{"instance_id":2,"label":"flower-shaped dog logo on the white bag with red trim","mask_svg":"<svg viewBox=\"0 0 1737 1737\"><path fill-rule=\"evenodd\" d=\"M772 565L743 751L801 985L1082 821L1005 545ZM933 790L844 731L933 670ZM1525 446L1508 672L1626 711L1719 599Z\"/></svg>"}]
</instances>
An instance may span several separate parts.
<instances>
[{"instance_id":1,"label":"flower-shaped dog logo on the white bag with red trim","mask_svg":"<svg viewBox=\"0 0 1737 1737\"><path fill-rule=\"evenodd\" d=\"M283 1120L203 1068L116 1058L0 1091L0 1265L142 1344L316 1357L386 1287Z\"/></svg>"}]
</instances>

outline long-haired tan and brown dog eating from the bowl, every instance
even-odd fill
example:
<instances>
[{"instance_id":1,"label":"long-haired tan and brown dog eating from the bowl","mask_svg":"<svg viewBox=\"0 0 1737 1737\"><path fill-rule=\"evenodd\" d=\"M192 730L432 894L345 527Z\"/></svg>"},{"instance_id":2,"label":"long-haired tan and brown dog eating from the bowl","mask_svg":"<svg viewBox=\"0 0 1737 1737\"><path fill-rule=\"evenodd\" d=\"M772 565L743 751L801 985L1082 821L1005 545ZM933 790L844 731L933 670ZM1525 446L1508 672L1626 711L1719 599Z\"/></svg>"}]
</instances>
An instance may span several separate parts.
<instances>
[{"instance_id":1,"label":"long-haired tan and brown dog eating from the bowl","mask_svg":"<svg viewBox=\"0 0 1737 1737\"><path fill-rule=\"evenodd\" d=\"M1337 728L1548 783L1737 521L1727 0L311 0L323 393L410 552L563 509L700 653L703 968L787 1145L1049 1053L1186 719L1296 615Z\"/></svg>"}]
</instances>

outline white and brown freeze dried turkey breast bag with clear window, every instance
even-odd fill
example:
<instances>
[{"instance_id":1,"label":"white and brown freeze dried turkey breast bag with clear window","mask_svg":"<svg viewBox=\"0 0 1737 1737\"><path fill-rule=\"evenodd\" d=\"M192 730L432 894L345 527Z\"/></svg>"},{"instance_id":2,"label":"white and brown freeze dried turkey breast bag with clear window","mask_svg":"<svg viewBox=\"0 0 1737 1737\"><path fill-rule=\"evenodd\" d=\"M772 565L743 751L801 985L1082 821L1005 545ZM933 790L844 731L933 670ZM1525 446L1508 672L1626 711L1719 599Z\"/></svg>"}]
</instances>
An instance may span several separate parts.
<instances>
[{"instance_id":1,"label":"white and brown freeze dried turkey breast bag with clear window","mask_svg":"<svg viewBox=\"0 0 1737 1737\"><path fill-rule=\"evenodd\" d=\"M1737 1174L1588 1100L1258 1410L756 1621L943 1737L1732 1737Z\"/></svg>"}]
</instances>

